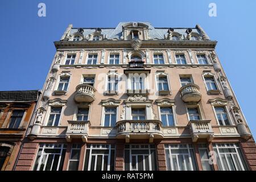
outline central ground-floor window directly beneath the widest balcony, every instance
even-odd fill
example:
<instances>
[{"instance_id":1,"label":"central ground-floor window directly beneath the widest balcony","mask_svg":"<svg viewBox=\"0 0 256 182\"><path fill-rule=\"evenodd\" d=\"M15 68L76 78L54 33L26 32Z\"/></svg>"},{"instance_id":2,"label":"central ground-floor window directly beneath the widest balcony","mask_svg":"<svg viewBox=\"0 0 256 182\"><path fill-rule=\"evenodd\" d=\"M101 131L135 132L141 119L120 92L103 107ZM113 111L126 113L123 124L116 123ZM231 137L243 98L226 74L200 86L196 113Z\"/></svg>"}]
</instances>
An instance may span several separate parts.
<instances>
[{"instance_id":1,"label":"central ground-floor window directly beneath the widest balcony","mask_svg":"<svg viewBox=\"0 0 256 182\"><path fill-rule=\"evenodd\" d=\"M126 171L155 171L156 154L154 144L126 144Z\"/></svg>"}]
</instances>

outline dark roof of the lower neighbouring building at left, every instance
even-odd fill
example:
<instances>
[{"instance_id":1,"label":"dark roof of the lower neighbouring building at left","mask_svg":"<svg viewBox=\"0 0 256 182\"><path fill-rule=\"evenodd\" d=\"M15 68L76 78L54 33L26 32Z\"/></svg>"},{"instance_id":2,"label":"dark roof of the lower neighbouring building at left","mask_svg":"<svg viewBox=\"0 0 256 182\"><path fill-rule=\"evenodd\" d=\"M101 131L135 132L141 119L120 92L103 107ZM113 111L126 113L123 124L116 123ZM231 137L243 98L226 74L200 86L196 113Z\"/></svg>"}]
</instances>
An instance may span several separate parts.
<instances>
[{"instance_id":1,"label":"dark roof of the lower neighbouring building at left","mask_svg":"<svg viewBox=\"0 0 256 182\"><path fill-rule=\"evenodd\" d=\"M37 101L39 90L0 91L0 101Z\"/></svg>"}]
</instances>

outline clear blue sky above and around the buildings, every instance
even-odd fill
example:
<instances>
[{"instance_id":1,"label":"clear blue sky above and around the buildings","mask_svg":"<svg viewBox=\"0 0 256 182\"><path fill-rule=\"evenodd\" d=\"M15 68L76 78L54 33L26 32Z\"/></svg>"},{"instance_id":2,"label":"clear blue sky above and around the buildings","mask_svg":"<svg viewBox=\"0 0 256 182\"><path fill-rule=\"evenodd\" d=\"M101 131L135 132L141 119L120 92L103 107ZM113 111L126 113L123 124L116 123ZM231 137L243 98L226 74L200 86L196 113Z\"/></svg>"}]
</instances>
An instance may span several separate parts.
<instances>
[{"instance_id":1,"label":"clear blue sky above and around the buildings","mask_svg":"<svg viewBox=\"0 0 256 182\"><path fill-rule=\"evenodd\" d=\"M38 4L46 3L46 17ZM217 16L208 15L209 3ZM212 40L226 75L256 134L255 51L256 1L0 1L0 90L42 89L55 47L68 24L115 27L119 22L146 21L154 27L195 27Z\"/></svg>"}]
</instances>

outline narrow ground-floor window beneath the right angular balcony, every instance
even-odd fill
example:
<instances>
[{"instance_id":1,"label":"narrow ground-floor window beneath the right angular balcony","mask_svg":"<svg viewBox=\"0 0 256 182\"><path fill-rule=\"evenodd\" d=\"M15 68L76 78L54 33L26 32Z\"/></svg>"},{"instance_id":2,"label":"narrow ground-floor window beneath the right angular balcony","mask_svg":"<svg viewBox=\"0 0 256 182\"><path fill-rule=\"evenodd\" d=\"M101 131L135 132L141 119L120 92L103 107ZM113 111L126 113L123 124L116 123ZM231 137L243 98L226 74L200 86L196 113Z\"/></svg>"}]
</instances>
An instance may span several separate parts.
<instances>
[{"instance_id":1,"label":"narrow ground-floor window beneath the right angular balcony","mask_svg":"<svg viewBox=\"0 0 256 182\"><path fill-rule=\"evenodd\" d=\"M209 151L206 144L198 144L199 154L201 159L202 168L204 171L213 171L213 166L210 164Z\"/></svg>"}]
</instances>

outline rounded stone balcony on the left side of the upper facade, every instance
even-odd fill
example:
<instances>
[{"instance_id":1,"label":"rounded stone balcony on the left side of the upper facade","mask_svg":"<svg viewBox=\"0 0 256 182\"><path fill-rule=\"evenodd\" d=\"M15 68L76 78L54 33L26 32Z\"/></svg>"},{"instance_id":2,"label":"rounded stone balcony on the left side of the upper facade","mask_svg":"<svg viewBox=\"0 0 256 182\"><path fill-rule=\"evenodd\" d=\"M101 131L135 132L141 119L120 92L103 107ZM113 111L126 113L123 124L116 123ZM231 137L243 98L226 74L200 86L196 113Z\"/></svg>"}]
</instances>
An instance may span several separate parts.
<instances>
[{"instance_id":1,"label":"rounded stone balcony on the left side of the upper facade","mask_svg":"<svg viewBox=\"0 0 256 182\"><path fill-rule=\"evenodd\" d=\"M75 101L76 102L92 102L95 100L94 94L96 89L87 84L80 84L76 86Z\"/></svg>"}]
</instances>

